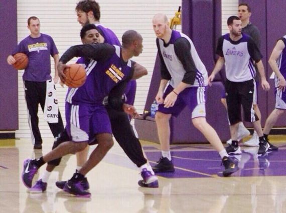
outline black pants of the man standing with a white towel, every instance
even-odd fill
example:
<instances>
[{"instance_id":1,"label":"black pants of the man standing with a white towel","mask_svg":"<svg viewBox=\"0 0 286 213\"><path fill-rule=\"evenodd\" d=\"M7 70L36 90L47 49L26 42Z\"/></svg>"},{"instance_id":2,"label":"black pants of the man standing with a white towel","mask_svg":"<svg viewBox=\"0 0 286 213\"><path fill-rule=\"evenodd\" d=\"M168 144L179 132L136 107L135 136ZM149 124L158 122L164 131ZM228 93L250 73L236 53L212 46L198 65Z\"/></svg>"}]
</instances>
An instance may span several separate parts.
<instances>
[{"instance_id":1,"label":"black pants of the man standing with a white towel","mask_svg":"<svg viewBox=\"0 0 286 213\"><path fill-rule=\"evenodd\" d=\"M32 140L35 144L42 144L43 140L39 129L38 107L41 105L44 111L46 101L47 82L24 81L25 97L28 107L28 120L32 131ZM59 122L48 123L54 135L58 136L64 130L64 124L61 113L59 111Z\"/></svg>"}]
</instances>

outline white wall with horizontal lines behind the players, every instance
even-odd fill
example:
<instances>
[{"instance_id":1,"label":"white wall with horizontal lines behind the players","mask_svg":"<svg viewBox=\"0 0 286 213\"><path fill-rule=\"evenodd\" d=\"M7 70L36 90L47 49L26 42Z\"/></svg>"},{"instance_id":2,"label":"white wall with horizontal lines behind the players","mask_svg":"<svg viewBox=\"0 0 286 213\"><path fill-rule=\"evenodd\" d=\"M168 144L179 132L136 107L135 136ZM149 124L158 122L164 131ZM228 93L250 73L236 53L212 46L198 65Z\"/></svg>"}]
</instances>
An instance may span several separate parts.
<instances>
[{"instance_id":1,"label":"white wall with horizontal lines behind the players","mask_svg":"<svg viewBox=\"0 0 286 213\"><path fill-rule=\"evenodd\" d=\"M41 21L41 32L53 37L60 56L72 45L80 44L79 32L81 26L76 21L75 6L78 0L18 0L18 42L26 38L30 31L27 20L36 16ZM120 3L119 3L120 2ZM157 48L152 29L152 18L157 13L164 13L171 18L174 16L181 0L98 0L101 8L101 23L112 29L121 41L122 34L129 29L138 31L144 38L143 53L134 58L136 62L145 66L149 74L137 81L135 107L142 113L152 78ZM225 33L226 19L236 15L238 0L222 0L222 22ZM177 30L181 30L178 26ZM75 59L71 63L75 62ZM52 60L52 76L54 75ZM30 137L27 118L27 107L24 97L23 71L19 71L19 130L16 137ZM60 110L65 121L64 103L67 88L57 85ZM39 126L42 137L52 137L49 126L43 119L39 108ZM65 122L64 122L65 123Z\"/></svg>"}]
</instances>

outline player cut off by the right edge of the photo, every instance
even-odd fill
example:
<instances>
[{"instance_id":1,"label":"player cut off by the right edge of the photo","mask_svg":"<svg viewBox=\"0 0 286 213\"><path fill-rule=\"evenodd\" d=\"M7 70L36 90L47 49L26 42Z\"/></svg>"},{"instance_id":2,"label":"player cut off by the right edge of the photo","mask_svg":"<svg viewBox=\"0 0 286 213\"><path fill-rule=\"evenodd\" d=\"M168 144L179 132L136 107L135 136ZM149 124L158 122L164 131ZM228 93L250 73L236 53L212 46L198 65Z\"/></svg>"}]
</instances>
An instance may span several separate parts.
<instances>
[{"instance_id":1,"label":"player cut off by the right edge of the photo","mask_svg":"<svg viewBox=\"0 0 286 213\"><path fill-rule=\"evenodd\" d=\"M275 95L276 95L276 103L275 109L271 112L268 116L264 129L263 134L265 140L268 141L268 135L270 133L271 128L276 123L277 119L281 117L286 109L286 36L280 38L270 56L268 61L271 69L275 73ZM269 143L269 141L268 141ZM269 143L270 144L270 143ZM272 145L273 146L273 145ZM271 145L270 145L271 147ZM278 147L276 147L277 150Z\"/></svg>"}]
</instances>

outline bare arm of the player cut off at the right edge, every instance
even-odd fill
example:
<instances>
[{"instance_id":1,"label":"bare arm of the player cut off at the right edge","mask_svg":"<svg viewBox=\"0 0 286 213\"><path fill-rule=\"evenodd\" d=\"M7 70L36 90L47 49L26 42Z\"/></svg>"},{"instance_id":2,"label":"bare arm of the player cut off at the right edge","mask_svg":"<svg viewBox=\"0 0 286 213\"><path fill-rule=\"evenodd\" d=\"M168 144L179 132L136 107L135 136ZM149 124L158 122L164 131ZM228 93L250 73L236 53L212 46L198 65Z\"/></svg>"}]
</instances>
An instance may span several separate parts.
<instances>
[{"instance_id":1,"label":"bare arm of the player cut off at the right edge","mask_svg":"<svg viewBox=\"0 0 286 213\"><path fill-rule=\"evenodd\" d=\"M278 85L278 89L281 89L281 90L285 90L285 87L286 87L286 81L285 81L285 78L282 76L278 66L277 66L277 63L276 63L276 60L279 58L279 56L281 55L283 49L285 48L285 44L286 44L286 39L282 38L282 39L279 39L271 53L271 56L269 58L269 65L271 67L271 69L273 70L273 72L276 74L276 76L278 77L279 79L279 85Z\"/></svg>"}]
</instances>

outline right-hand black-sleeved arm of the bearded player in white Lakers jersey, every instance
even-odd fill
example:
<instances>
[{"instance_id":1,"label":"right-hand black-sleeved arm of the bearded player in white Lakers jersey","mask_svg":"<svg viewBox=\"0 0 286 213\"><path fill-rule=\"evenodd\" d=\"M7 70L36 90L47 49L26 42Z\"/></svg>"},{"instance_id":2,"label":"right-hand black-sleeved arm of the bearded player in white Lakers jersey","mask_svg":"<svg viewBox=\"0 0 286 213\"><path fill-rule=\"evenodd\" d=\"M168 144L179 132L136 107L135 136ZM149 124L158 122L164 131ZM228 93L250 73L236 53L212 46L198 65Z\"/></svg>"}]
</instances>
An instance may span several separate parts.
<instances>
[{"instance_id":1,"label":"right-hand black-sleeved arm of the bearded player in white Lakers jersey","mask_svg":"<svg viewBox=\"0 0 286 213\"><path fill-rule=\"evenodd\" d=\"M266 81L266 77L265 77L265 70L264 70L264 66L262 63L262 55L258 49L258 47L256 46L256 44L254 43L252 38L249 38L247 41L247 49L249 52L249 55L251 57L252 60L254 60L254 62L257 65L257 69L258 72L260 74L261 77L261 86L264 90L269 90L270 89L270 85L268 84L268 82Z\"/></svg>"}]
</instances>

